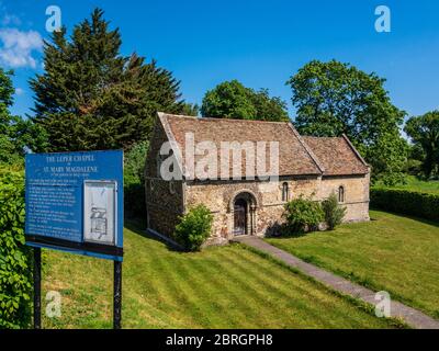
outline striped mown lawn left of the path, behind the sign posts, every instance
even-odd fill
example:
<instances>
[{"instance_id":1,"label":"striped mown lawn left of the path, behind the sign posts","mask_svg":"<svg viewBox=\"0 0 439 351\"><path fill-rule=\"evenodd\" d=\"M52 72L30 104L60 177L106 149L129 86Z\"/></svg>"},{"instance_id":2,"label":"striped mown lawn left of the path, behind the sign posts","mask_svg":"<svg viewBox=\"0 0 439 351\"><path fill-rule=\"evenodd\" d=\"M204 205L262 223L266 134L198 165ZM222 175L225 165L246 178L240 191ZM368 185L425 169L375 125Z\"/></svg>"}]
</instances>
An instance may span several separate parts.
<instances>
[{"instance_id":1,"label":"striped mown lawn left of the path, behind the sign posts","mask_svg":"<svg viewBox=\"0 0 439 351\"><path fill-rule=\"evenodd\" d=\"M60 292L63 308L43 327L111 328L112 262L46 250L45 260L43 293ZM122 317L124 328L392 327L238 245L182 253L128 229Z\"/></svg>"}]
</instances>

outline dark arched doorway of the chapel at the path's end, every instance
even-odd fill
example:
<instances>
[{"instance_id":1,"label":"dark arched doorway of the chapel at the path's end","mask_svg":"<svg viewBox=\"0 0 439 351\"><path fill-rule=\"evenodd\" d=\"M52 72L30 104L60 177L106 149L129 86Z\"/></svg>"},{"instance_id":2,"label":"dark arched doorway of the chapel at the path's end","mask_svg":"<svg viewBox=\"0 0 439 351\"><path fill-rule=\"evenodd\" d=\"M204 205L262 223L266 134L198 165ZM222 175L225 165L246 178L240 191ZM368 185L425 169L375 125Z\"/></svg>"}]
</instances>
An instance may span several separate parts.
<instances>
[{"instance_id":1,"label":"dark arched doorway of the chapel at the path's end","mask_svg":"<svg viewBox=\"0 0 439 351\"><path fill-rule=\"evenodd\" d=\"M255 234L256 200L248 192L239 193L233 202L233 235Z\"/></svg>"}]
</instances>

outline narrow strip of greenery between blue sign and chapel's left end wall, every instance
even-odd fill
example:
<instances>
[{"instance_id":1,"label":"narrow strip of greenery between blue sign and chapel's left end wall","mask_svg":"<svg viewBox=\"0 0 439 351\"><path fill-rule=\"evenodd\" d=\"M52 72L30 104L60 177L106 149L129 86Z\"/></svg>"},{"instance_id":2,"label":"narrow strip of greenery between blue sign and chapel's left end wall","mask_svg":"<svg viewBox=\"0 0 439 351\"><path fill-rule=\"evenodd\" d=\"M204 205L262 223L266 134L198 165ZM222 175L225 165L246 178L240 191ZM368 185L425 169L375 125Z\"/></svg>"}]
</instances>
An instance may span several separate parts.
<instances>
[{"instance_id":1,"label":"narrow strip of greenery between blue sign and chapel's left end wall","mask_svg":"<svg viewBox=\"0 0 439 351\"><path fill-rule=\"evenodd\" d=\"M149 143L135 144L124 157L124 202L128 217L145 218L145 161Z\"/></svg>"}]
</instances>

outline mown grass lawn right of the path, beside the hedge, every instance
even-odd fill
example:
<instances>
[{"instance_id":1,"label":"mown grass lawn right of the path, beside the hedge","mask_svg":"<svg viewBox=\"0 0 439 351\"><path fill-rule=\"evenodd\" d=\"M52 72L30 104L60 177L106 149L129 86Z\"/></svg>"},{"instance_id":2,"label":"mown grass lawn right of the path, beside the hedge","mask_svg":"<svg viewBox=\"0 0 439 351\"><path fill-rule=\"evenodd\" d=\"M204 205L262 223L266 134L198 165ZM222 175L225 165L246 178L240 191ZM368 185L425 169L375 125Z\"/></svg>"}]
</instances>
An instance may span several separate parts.
<instances>
[{"instance_id":1,"label":"mown grass lawn right of the path, beside the hedge","mask_svg":"<svg viewBox=\"0 0 439 351\"><path fill-rule=\"evenodd\" d=\"M372 220L268 242L439 318L439 225L371 211Z\"/></svg>"}]
</instances>

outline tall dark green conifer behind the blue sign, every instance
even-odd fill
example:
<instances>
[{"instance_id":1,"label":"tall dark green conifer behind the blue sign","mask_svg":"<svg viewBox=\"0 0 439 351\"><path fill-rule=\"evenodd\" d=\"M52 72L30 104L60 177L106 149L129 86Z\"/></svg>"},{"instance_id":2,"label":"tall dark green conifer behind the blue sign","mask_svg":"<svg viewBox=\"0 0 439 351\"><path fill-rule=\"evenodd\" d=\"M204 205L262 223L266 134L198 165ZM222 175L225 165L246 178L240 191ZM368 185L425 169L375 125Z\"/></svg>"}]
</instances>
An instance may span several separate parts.
<instances>
[{"instance_id":1,"label":"tall dark green conifer behind the blue sign","mask_svg":"<svg viewBox=\"0 0 439 351\"><path fill-rule=\"evenodd\" d=\"M45 43L45 72L31 80L33 120L47 131L50 151L127 149L148 138L157 111L183 109L171 72L120 54L121 34L102 10L77 24L70 39L66 32Z\"/></svg>"}]
</instances>

